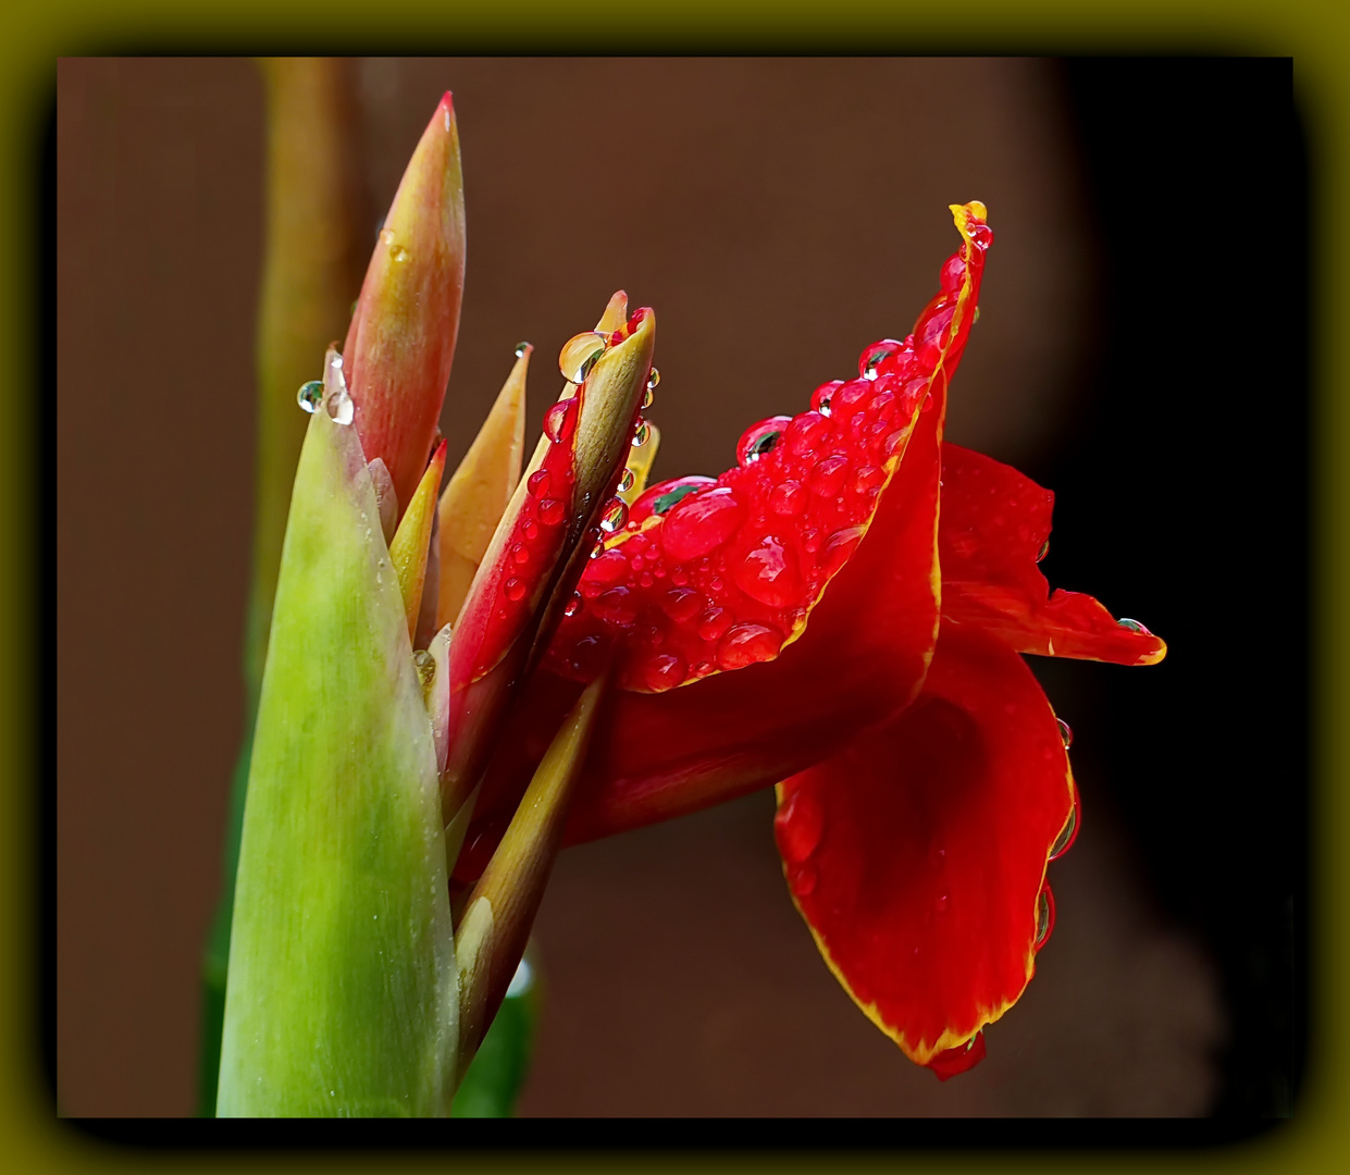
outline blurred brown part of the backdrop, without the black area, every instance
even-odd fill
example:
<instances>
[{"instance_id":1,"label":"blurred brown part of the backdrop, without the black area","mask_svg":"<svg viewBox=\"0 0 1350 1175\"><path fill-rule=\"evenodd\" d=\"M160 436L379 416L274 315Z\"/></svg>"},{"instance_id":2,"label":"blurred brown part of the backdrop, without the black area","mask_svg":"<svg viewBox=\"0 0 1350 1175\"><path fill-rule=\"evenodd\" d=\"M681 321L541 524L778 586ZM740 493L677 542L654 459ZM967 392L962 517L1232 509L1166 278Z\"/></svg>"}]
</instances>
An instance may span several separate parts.
<instances>
[{"instance_id":1,"label":"blurred brown part of the backdrop, without the black area","mask_svg":"<svg viewBox=\"0 0 1350 1175\"><path fill-rule=\"evenodd\" d=\"M1073 451L1102 273L1061 70L366 59L354 78L371 243L455 95L451 462L516 342L536 346L537 427L560 344L624 288L659 319L656 475L716 474L747 424L903 336L956 243L946 205L971 199L996 246L948 435L1030 473ZM243 721L263 93L247 61L63 61L57 111L58 1097L188 1114ZM1146 533L1114 538L1120 566L1146 566ZM1135 608L1110 571L1064 586ZM1076 705L1103 705L1092 673L1123 671L1045 675L1076 728ZM1085 820L1050 872L1053 940L971 1074L915 1068L832 979L763 793L563 855L521 1113L1207 1113L1231 1033L1212 952L1158 901L1081 729L1075 770Z\"/></svg>"}]
</instances>

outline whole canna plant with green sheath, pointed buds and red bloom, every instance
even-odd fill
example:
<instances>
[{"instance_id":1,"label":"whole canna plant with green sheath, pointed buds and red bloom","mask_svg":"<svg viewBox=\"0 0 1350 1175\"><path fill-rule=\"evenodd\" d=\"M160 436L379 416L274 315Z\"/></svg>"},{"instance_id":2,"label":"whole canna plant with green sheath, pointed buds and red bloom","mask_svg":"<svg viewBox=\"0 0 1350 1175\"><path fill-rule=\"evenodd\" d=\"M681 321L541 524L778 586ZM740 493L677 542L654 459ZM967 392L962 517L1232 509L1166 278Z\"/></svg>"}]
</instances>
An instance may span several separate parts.
<instances>
[{"instance_id":1,"label":"whole canna plant with green sheath, pointed buds and red bloom","mask_svg":"<svg viewBox=\"0 0 1350 1175\"><path fill-rule=\"evenodd\" d=\"M254 731L223 1114L443 1114L564 843L776 786L792 899L861 1009L940 1076L983 1055L1077 828L1022 654L1164 646L1037 570L1052 497L946 446L992 232L903 340L645 488L656 316L617 293L524 463L528 344L444 492L463 290L450 95L310 413Z\"/></svg>"}]
</instances>

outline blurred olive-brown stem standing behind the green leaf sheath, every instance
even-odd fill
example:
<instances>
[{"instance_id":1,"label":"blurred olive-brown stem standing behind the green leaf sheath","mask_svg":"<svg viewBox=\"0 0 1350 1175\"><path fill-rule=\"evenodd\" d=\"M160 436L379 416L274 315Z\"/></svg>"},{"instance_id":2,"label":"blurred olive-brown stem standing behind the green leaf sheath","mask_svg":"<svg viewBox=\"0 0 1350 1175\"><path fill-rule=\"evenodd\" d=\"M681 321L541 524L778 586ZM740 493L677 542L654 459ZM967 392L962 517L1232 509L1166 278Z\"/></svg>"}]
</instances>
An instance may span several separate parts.
<instances>
[{"instance_id":1,"label":"blurred olive-brown stem standing behind the green leaf sheath","mask_svg":"<svg viewBox=\"0 0 1350 1175\"><path fill-rule=\"evenodd\" d=\"M215 1114L239 828L290 486L309 419L296 407L296 389L320 374L324 347L347 331L367 243L359 231L366 217L356 169L351 62L275 58L261 61L259 69L267 107L266 247L258 300L244 735L231 781L220 902L202 968L198 1113L204 1116Z\"/></svg>"}]
</instances>

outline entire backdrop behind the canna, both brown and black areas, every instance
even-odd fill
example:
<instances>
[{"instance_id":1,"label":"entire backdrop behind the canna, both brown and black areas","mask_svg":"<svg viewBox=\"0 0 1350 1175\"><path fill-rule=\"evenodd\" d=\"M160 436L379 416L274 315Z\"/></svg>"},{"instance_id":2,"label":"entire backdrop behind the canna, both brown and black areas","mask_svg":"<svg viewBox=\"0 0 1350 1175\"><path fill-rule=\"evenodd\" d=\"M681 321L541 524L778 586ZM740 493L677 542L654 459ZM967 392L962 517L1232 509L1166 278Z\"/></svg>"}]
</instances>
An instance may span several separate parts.
<instances>
[{"instance_id":1,"label":"entire backdrop behind the canna, both brown and black areas","mask_svg":"<svg viewBox=\"0 0 1350 1175\"><path fill-rule=\"evenodd\" d=\"M1305 921L1305 193L1288 62L359 62L370 238L443 89L468 263L451 461L536 344L657 311L657 477L717 473L909 328L990 205L950 439L1057 493L1044 567L1170 646L1033 664L1084 821L988 1059L940 1085L838 989L767 793L567 851L526 1114L1289 1109ZM262 86L63 61L57 154L57 1080L194 1105L240 736ZM352 290L355 296L355 290ZM321 351L320 340L319 351ZM316 351L316 365L317 354ZM298 411L298 409L297 409Z\"/></svg>"}]
</instances>

